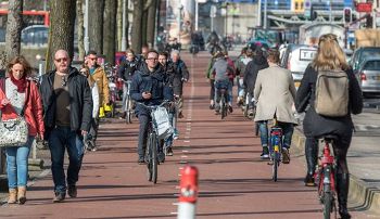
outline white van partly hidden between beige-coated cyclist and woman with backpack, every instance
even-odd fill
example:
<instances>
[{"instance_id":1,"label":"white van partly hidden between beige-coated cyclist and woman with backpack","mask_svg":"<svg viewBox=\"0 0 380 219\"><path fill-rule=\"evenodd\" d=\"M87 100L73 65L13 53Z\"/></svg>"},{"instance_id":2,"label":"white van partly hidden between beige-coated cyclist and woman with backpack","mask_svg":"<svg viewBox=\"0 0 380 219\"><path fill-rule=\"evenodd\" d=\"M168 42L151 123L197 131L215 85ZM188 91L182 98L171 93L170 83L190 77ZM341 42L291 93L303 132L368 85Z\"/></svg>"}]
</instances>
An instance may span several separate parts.
<instances>
[{"instance_id":1,"label":"white van partly hidden between beige-coated cyclist and woman with backpack","mask_svg":"<svg viewBox=\"0 0 380 219\"><path fill-rule=\"evenodd\" d=\"M280 61L281 67L292 73L295 87L300 86L307 65L313 61L317 53L316 47L306 44L288 44Z\"/></svg>"}]
</instances>

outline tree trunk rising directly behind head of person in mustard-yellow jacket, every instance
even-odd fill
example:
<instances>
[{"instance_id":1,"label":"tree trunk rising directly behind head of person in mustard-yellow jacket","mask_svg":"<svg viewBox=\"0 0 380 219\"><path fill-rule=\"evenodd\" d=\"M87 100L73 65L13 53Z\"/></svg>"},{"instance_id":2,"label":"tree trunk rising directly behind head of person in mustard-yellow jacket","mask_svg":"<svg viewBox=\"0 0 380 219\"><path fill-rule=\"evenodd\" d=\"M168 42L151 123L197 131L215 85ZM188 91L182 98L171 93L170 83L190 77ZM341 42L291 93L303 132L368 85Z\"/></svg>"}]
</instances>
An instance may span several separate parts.
<instances>
[{"instance_id":1,"label":"tree trunk rising directly behind head of person in mustard-yellow jacket","mask_svg":"<svg viewBox=\"0 0 380 219\"><path fill-rule=\"evenodd\" d=\"M104 0L89 1L88 35L90 50L96 51L99 55L103 53L103 12Z\"/></svg>"}]
</instances>

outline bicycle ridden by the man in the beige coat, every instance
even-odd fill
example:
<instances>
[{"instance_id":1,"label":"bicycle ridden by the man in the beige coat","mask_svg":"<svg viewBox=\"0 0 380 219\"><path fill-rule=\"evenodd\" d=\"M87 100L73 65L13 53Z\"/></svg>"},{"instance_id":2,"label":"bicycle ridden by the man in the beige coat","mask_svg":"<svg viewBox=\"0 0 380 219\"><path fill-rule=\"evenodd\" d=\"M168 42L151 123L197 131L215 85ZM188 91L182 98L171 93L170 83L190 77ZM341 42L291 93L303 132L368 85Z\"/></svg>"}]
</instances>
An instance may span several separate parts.
<instances>
[{"instance_id":1,"label":"bicycle ridden by the man in the beige coat","mask_svg":"<svg viewBox=\"0 0 380 219\"><path fill-rule=\"evenodd\" d=\"M282 150L282 129L278 126L277 119L274 118L274 126L270 128L269 157L271 165L271 179L277 182L278 167L281 164Z\"/></svg>"}]
</instances>

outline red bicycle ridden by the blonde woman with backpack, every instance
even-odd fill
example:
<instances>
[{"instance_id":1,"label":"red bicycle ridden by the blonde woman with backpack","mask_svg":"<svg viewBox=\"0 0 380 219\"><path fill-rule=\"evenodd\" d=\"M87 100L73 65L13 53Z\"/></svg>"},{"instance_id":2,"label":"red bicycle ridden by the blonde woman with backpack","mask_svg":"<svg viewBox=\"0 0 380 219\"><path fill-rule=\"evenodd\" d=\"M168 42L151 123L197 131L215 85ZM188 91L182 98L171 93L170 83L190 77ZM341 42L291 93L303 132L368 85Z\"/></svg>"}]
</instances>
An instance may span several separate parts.
<instances>
[{"instance_id":1,"label":"red bicycle ridden by the blonde woman with backpack","mask_svg":"<svg viewBox=\"0 0 380 219\"><path fill-rule=\"evenodd\" d=\"M318 168L315 172L315 179L318 186L318 197L324 205L324 218L330 219L331 214L337 218L337 189L335 189L335 159L331 155L330 144L333 144L335 137L326 136L324 138L325 146L322 156L319 157Z\"/></svg>"}]
</instances>

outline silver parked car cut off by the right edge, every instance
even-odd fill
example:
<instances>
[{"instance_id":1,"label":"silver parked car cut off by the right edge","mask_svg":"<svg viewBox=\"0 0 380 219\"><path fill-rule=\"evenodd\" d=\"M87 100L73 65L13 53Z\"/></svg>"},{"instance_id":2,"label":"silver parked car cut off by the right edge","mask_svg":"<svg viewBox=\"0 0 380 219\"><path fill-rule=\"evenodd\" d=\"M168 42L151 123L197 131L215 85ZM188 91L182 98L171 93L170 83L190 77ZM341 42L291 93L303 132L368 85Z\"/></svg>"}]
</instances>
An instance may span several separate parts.
<instances>
[{"instance_id":1,"label":"silver parked car cut off by the right edge","mask_svg":"<svg viewBox=\"0 0 380 219\"><path fill-rule=\"evenodd\" d=\"M380 56L368 57L358 67L356 78L363 94L380 94Z\"/></svg>"}]
</instances>

